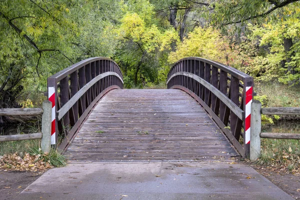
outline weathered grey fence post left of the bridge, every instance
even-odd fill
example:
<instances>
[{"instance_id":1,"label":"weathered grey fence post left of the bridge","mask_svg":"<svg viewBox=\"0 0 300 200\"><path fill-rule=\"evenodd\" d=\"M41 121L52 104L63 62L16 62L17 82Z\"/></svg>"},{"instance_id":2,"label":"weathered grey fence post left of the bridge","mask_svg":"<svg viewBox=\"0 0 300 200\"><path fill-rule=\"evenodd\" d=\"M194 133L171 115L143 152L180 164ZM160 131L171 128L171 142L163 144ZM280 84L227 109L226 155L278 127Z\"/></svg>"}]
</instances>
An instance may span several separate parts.
<instances>
[{"instance_id":1,"label":"weathered grey fence post left of the bridge","mask_svg":"<svg viewBox=\"0 0 300 200\"><path fill-rule=\"evenodd\" d=\"M42 102L42 117L41 117L41 149L43 152L50 152L51 148L51 112L52 102L45 100Z\"/></svg>"}]
</instances>

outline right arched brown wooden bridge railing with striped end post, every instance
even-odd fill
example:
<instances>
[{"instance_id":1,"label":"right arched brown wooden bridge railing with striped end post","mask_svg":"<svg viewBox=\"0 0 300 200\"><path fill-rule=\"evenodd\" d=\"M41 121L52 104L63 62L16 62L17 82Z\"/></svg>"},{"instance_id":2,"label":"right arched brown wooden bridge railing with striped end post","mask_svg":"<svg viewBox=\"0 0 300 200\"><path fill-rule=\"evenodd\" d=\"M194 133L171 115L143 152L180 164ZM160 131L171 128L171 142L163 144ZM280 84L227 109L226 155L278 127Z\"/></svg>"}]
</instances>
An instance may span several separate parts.
<instances>
[{"instance_id":1,"label":"right arched brown wooden bridge railing with striped end post","mask_svg":"<svg viewBox=\"0 0 300 200\"><path fill-rule=\"evenodd\" d=\"M186 57L171 67L167 88L181 89L195 98L238 152L249 155L251 76L216 61Z\"/></svg>"}]
</instances>

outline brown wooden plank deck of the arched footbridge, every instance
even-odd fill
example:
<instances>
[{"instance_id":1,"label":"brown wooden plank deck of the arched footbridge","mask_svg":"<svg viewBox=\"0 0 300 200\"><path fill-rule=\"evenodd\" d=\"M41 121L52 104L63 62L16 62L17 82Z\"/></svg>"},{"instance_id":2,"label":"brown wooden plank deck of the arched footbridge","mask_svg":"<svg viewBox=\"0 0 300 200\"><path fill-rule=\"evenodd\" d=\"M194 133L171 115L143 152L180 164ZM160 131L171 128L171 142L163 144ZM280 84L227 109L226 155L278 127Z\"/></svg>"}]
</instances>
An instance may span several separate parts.
<instances>
[{"instance_id":1,"label":"brown wooden plank deck of the arched footbridge","mask_svg":"<svg viewBox=\"0 0 300 200\"><path fill-rule=\"evenodd\" d=\"M229 161L237 153L204 109L177 89L116 89L94 107L69 161Z\"/></svg>"}]
</instances>

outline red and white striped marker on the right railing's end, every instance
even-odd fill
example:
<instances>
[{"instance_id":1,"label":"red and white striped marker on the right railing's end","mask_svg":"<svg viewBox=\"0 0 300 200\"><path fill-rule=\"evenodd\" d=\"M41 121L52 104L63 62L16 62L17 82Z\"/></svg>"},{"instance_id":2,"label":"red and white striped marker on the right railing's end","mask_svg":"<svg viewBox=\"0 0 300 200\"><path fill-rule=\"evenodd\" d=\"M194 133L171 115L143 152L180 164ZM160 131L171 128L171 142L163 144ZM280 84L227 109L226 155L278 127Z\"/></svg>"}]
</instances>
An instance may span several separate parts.
<instances>
[{"instance_id":1,"label":"red and white striped marker on the right railing's end","mask_svg":"<svg viewBox=\"0 0 300 200\"><path fill-rule=\"evenodd\" d=\"M250 143L250 124L251 124L251 102L253 96L253 87L246 86L246 99L245 99L245 143Z\"/></svg>"}]
</instances>

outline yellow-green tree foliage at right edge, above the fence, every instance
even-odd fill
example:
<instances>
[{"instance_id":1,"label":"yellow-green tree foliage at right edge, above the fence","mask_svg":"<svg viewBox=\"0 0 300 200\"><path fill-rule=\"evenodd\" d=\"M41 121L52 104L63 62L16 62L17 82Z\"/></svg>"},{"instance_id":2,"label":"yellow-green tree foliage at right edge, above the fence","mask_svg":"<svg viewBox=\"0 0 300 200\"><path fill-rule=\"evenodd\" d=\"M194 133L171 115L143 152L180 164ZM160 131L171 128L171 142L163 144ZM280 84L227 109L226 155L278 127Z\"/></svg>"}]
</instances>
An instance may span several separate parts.
<instances>
[{"instance_id":1,"label":"yellow-green tree foliage at right edge, above the fence","mask_svg":"<svg viewBox=\"0 0 300 200\"><path fill-rule=\"evenodd\" d=\"M259 38L260 46L268 46L269 53L257 57L260 61L255 64L265 69L265 77L261 76L260 80L276 78L289 85L299 83L299 16L300 8L294 3L277 10L275 19L267 18L262 25L248 25L252 36Z\"/></svg>"}]
</instances>

